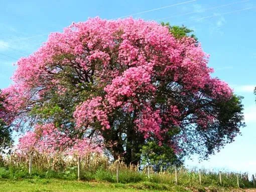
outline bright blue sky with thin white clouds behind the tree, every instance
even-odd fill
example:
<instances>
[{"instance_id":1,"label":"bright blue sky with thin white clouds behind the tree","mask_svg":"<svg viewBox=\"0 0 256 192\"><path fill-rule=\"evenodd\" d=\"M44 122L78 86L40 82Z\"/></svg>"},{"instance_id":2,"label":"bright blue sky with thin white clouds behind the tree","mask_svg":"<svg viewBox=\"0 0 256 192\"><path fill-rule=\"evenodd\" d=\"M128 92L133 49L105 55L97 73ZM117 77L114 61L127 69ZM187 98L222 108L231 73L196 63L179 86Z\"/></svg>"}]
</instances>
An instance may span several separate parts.
<instances>
[{"instance_id":1,"label":"bright blue sky with thin white clouds behind the tree","mask_svg":"<svg viewBox=\"0 0 256 192\"><path fill-rule=\"evenodd\" d=\"M61 2L61 3L60 3ZM89 17L116 19L133 16L170 22L193 29L204 51L210 54L213 76L226 81L244 97L246 127L242 136L208 161L197 157L187 166L256 172L255 82L256 1L5 1L0 0L0 89L10 85L13 63L36 51L50 32Z\"/></svg>"}]
</instances>

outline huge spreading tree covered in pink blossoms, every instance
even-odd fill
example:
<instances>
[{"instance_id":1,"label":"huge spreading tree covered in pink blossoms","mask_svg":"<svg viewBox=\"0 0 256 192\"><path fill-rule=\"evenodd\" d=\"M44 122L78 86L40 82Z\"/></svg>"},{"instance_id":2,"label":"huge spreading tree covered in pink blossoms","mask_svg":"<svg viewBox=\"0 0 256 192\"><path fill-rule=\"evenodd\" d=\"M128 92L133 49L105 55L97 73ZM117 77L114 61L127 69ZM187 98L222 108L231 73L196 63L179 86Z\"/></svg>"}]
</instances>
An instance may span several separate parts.
<instances>
[{"instance_id":1,"label":"huge spreading tree covered in pink blossoms","mask_svg":"<svg viewBox=\"0 0 256 192\"><path fill-rule=\"evenodd\" d=\"M53 33L18 61L15 84L4 90L9 119L20 130L36 127L32 137L45 146L57 140L55 150L102 137L102 147L127 164L140 161L151 141L178 156L207 157L244 126L242 105L210 76L208 56L189 32L94 18Z\"/></svg>"}]
</instances>

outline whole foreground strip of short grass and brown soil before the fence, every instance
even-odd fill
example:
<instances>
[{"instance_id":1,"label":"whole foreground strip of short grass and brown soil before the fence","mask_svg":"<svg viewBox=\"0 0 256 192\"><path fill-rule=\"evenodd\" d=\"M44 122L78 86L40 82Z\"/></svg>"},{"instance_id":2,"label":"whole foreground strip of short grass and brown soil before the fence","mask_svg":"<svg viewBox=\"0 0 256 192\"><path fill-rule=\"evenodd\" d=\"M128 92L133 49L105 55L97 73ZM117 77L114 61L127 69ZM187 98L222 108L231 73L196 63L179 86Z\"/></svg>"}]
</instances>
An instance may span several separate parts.
<instances>
[{"instance_id":1,"label":"whole foreground strip of short grass and brown soil before the fence","mask_svg":"<svg viewBox=\"0 0 256 192\"><path fill-rule=\"evenodd\" d=\"M149 181L137 183L110 183L96 181L72 181L62 179L0 179L0 192L79 192L79 191L200 191L200 192L216 192L216 191L235 191L234 188L221 188L215 186L208 187L184 187L171 186L167 184L152 183Z\"/></svg>"}]
</instances>

